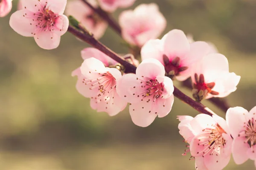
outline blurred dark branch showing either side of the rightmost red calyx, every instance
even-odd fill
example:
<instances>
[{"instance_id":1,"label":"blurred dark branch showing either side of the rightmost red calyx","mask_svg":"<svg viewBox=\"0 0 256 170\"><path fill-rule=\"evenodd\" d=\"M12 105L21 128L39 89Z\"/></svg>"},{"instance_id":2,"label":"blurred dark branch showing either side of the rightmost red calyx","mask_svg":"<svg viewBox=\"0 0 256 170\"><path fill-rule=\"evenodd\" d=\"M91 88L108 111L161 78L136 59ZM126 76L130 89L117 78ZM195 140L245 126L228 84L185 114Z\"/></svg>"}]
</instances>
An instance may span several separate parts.
<instances>
[{"instance_id":1,"label":"blurred dark branch showing either side of the rightmost red calyx","mask_svg":"<svg viewBox=\"0 0 256 170\"><path fill-rule=\"evenodd\" d=\"M192 89L191 79L187 79L182 82L182 85L186 88ZM225 113L230 108L229 104L227 103L227 99L225 98L216 98L213 97L211 99L208 99L210 102L212 102L215 106L220 108Z\"/></svg>"}]
</instances>

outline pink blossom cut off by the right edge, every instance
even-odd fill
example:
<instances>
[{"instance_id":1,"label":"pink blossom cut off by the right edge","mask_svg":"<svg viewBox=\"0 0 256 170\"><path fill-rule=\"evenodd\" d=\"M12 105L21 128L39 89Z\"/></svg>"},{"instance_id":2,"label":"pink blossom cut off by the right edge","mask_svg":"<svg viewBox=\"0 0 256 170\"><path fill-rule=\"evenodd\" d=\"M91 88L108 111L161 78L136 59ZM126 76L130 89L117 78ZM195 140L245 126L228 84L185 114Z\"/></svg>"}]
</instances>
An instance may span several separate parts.
<instances>
[{"instance_id":1,"label":"pink blossom cut off by the right edge","mask_svg":"<svg viewBox=\"0 0 256 170\"><path fill-rule=\"evenodd\" d=\"M256 107L249 112L241 107L229 108L227 125L233 137L232 153L236 164L256 161Z\"/></svg>"}]
</instances>

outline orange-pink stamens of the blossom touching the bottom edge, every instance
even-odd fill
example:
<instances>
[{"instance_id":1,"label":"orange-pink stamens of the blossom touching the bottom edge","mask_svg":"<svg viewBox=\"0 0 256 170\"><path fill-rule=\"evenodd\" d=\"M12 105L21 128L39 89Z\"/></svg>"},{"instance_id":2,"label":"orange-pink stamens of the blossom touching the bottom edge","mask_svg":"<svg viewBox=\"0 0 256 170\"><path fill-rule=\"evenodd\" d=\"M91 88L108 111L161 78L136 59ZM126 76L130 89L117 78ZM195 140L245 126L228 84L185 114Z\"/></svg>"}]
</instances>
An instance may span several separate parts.
<instances>
[{"instance_id":1,"label":"orange-pink stamens of the blossom touching the bottom edge","mask_svg":"<svg viewBox=\"0 0 256 170\"><path fill-rule=\"evenodd\" d=\"M209 153L220 153L226 144L226 140L222 137L222 133L226 133L218 124L212 125L212 128L205 128L203 133L198 136L198 146L203 146L204 148L198 152L198 155L203 157Z\"/></svg>"}]
</instances>

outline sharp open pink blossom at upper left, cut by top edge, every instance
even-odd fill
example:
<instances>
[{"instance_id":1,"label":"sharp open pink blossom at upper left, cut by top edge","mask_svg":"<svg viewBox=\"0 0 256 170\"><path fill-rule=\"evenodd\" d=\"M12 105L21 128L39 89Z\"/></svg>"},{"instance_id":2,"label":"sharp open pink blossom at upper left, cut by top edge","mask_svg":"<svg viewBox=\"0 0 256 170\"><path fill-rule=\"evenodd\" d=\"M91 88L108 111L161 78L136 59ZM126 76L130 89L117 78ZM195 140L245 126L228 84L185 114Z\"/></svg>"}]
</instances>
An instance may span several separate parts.
<instances>
[{"instance_id":1,"label":"sharp open pink blossom at upper left, cut by top edge","mask_svg":"<svg viewBox=\"0 0 256 170\"><path fill-rule=\"evenodd\" d=\"M68 18L63 15L67 0L23 0L22 10L10 18L10 26L18 34L34 37L39 47L57 48L67 32Z\"/></svg>"}]
</instances>

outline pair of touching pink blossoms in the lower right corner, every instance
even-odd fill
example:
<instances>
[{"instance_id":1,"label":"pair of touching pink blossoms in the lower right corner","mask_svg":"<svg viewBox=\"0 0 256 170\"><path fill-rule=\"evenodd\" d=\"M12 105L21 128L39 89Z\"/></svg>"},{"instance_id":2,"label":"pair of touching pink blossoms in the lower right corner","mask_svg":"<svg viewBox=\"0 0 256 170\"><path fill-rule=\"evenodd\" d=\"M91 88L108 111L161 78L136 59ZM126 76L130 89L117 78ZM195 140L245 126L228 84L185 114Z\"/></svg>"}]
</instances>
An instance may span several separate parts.
<instances>
[{"instance_id":1,"label":"pair of touching pink blossoms in the lower right corner","mask_svg":"<svg viewBox=\"0 0 256 170\"><path fill-rule=\"evenodd\" d=\"M178 116L178 128L189 144L191 158L198 170L222 170L230 161L236 164L248 159L256 165L256 107L249 112L242 107L229 108L226 120L220 116L199 114Z\"/></svg>"}]
</instances>

